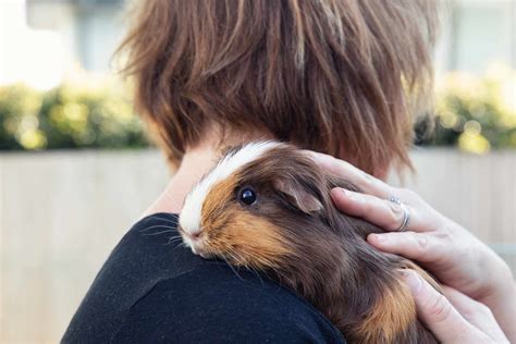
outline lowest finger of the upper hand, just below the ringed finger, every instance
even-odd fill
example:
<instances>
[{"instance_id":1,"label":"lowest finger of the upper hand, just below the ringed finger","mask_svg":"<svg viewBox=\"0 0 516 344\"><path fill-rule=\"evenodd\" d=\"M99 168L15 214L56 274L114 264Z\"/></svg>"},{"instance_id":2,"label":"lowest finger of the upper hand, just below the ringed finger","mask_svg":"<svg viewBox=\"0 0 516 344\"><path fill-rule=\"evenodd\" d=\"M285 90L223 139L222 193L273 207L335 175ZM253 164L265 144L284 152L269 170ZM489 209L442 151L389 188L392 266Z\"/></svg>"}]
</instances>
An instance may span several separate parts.
<instances>
[{"instance_id":1,"label":"lowest finger of the upper hand, just below the ringed finger","mask_svg":"<svg viewBox=\"0 0 516 344\"><path fill-rule=\"evenodd\" d=\"M381 251L420 262L442 260L446 256L445 249L447 248L441 238L416 232L369 234L367 242Z\"/></svg>"}]
</instances>

